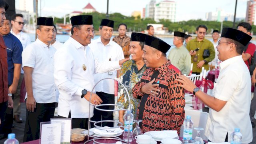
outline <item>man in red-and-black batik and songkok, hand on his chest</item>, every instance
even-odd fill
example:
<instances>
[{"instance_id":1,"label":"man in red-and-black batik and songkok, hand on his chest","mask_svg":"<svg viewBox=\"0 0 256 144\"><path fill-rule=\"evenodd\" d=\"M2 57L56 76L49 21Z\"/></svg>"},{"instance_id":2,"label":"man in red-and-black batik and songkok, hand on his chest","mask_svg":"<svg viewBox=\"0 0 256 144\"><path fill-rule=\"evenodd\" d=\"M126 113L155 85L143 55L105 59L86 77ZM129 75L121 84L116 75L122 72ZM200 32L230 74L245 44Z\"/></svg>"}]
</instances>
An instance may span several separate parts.
<instances>
[{"instance_id":1,"label":"man in red-and-black batik and songkok, hand on his chest","mask_svg":"<svg viewBox=\"0 0 256 144\"><path fill-rule=\"evenodd\" d=\"M147 67L140 81L133 88L133 97L141 99L138 119L142 131L177 130L184 121L184 89L176 86L181 74L166 58L170 45L153 36L146 36L142 58Z\"/></svg>"}]
</instances>

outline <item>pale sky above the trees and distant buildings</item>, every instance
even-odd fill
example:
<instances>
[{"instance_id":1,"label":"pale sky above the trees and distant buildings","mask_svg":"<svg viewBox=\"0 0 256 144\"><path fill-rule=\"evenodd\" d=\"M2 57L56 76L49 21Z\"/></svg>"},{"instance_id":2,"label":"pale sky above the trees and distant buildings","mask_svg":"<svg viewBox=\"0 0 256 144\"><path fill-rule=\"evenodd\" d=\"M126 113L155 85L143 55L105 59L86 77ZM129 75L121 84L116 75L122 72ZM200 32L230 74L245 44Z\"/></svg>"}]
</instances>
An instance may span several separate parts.
<instances>
[{"instance_id":1,"label":"pale sky above the trees and distant buildings","mask_svg":"<svg viewBox=\"0 0 256 144\"><path fill-rule=\"evenodd\" d=\"M19 0L16 0L16 8ZM31 0L32 1L32 0ZM156 0L160 2L161 0ZM176 21L202 19L206 12L215 12L221 8L227 13L234 13L236 0L172 0L176 2ZM245 18L248 0L238 0L236 18ZM82 11L88 2L98 12L106 13L107 0L38 0L39 16L63 17L72 11ZM141 11L150 0L109 0L109 14L119 12L131 16L133 11ZM41 6L40 6L41 4Z\"/></svg>"}]
</instances>

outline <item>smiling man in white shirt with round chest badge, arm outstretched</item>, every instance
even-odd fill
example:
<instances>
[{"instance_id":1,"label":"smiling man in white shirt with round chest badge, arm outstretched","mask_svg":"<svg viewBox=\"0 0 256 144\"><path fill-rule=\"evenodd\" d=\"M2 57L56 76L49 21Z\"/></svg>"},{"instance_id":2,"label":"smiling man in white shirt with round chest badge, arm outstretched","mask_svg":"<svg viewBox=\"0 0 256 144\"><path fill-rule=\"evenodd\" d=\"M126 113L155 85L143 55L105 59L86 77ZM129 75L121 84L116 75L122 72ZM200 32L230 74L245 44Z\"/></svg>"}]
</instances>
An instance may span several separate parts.
<instances>
[{"instance_id":1,"label":"smiling man in white shirt with round chest badge, arm outstretched","mask_svg":"<svg viewBox=\"0 0 256 144\"><path fill-rule=\"evenodd\" d=\"M88 46L94 35L92 16L73 16L70 20L72 36L54 55L54 80L60 92L58 116L72 118L72 128L87 129L89 113L93 116L93 106L89 112L89 103L102 103L95 91L92 92L94 74L120 68L128 59L99 62Z\"/></svg>"}]
</instances>

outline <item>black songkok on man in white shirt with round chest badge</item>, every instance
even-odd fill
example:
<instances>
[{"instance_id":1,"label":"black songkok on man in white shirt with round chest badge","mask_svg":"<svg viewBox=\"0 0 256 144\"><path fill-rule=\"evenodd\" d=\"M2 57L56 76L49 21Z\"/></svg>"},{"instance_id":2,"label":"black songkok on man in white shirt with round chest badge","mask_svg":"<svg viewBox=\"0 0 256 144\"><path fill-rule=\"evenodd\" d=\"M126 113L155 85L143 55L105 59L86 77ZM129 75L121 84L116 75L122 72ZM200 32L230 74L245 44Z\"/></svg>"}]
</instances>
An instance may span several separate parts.
<instances>
[{"instance_id":1,"label":"black songkok on man in white shirt with round chest badge","mask_svg":"<svg viewBox=\"0 0 256 144\"><path fill-rule=\"evenodd\" d=\"M72 26L74 25L92 25L92 16L91 15L78 15L72 16L70 18Z\"/></svg>"}]
</instances>

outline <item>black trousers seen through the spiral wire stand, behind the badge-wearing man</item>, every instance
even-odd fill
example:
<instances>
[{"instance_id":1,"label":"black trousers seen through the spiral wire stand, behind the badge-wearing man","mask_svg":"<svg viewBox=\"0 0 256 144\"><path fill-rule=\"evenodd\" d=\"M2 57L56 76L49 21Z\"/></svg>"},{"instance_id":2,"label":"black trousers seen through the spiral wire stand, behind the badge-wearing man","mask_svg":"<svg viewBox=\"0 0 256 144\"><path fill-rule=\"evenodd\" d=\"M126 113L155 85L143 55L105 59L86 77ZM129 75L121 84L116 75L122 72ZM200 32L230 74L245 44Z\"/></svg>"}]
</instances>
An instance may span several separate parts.
<instances>
[{"instance_id":1,"label":"black trousers seen through the spiral wire stand, behind the badge-wearing man","mask_svg":"<svg viewBox=\"0 0 256 144\"><path fill-rule=\"evenodd\" d=\"M105 92L96 92L96 94L101 98L102 104L115 104L115 95L114 94L107 94ZM114 106L100 106L98 108L104 110L114 110ZM91 120L93 121L100 121L102 120L113 120L113 112L104 112L101 110L96 110L94 108L93 117ZM94 123L91 123L91 128L94 128ZM102 122L102 126L109 126L113 127L113 122ZM98 123L97 126L101 126L101 123Z\"/></svg>"}]
</instances>

